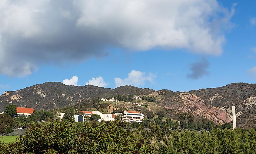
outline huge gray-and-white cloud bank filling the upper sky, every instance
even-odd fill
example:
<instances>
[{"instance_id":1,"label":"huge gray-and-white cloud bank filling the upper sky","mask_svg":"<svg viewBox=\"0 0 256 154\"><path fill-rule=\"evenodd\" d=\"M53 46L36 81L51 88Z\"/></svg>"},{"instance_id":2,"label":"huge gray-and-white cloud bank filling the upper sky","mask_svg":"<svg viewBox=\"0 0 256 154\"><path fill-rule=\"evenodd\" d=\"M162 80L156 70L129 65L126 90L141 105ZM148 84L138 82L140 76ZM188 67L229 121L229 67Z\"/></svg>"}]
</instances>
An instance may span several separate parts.
<instances>
[{"instance_id":1,"label":"huge gray-and-white cloud bank filling the upper sky","mask_svg":"<svg viewBox=\"0 0 256 154\"><path fill-rule=\"evenodd\" d=\"M0 74L26 76L40 64L155 47L220 55L229 11L216 0L0 2ZM189 24L188 24L189 23Z\"/></svg>"}]
</instances>

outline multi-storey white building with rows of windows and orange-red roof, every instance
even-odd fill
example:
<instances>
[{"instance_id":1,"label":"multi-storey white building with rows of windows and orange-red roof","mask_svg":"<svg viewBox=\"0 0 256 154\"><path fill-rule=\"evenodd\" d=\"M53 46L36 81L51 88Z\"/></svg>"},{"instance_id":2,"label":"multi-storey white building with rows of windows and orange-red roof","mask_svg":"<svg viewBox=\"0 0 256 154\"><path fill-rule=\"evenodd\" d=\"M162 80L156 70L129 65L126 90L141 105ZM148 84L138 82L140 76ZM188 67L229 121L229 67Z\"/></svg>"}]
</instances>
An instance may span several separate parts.
<instances>
[{"instance_id":1,"label":"multi-storey white building with rows of windows and orange-red roof","mask_svg":"<svg viewBox=\"0 0 256 154\"><path fill-rule=\"evenodd\" d=\"M124 111L123 113L115 113L114 115L122 114L122 122L127 121L129 123L138 122L141 124L144 120L144 114L136 111Z\"/></svg>"}]
</instances>

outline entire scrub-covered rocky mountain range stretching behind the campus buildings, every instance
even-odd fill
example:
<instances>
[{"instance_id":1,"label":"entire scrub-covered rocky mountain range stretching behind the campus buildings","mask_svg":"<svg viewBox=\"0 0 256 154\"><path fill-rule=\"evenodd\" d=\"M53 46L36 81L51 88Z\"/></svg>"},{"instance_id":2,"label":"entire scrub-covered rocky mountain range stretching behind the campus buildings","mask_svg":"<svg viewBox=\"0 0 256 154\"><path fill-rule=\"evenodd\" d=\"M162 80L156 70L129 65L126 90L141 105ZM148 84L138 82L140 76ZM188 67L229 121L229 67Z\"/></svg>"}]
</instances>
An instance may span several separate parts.
<instances>
[{"instance_id":1,"label":"entire scrub-covered rocky mountain range stretching behind the campus buildings","mask_svg":"<svg viewBox=\"0 0 256 154\"><path fill-rule=\"evenodd\" d=\"M155 91L134 86L110 89L92 85L67 86L60 82L47 82L0 95L0 112L11 103L21 107L50 110L79 105L92 98L129 94L155 96L157 105L164 108L166 115L170 117L178 119L180 113L191 113L218 124L232 121L232 105L235 105L238 127L256 127L256 84L248 83L232 83L219 88L191 90L187 93L171 90ZM157 111L156 107L139 108L140 111Z\"/></svg>"}]
</instances>

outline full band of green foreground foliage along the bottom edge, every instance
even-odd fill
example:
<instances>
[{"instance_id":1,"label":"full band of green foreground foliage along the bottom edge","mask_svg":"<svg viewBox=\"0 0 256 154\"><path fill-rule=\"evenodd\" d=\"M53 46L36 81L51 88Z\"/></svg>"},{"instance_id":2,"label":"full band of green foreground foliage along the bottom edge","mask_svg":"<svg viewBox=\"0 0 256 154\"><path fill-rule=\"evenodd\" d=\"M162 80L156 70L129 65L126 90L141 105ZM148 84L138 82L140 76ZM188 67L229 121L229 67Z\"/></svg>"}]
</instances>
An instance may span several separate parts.
<instances>
[{"instance_id":1,"label":"full band of green foreground foliage along the bottom edge","mask_svg":"<svg viewBox=\"0 0 256 154\"><path fill-rule=\"evenodd\" d=\"M48 121L32 123L15 143L0 143L1 154L255 154L256 130L219 129L198 134L151 124L131 131L126 123Z\"/></svg>"}]
</instances>

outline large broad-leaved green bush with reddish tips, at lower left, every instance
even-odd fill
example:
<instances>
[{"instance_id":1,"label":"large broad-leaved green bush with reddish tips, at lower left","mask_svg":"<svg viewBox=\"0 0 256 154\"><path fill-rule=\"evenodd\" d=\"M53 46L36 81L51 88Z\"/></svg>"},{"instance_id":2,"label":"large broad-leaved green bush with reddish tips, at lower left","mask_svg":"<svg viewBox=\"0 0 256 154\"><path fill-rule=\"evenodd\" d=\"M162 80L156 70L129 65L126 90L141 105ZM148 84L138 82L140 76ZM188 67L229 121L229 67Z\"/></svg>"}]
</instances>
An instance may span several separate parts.
<instances>
[{"instance_id":1,"label":"large broad-leaved green bush with reddish tips, at lower left","mask_svg":"<svg viewBox=\"0 0 256 154\"><path fill-rule=\"evenodd\" d=\"M1 144L1 154L111 154L154 153L151 146L123 128L123 123L34 124L16 143Z\"/></svg>"}]
</instances>

